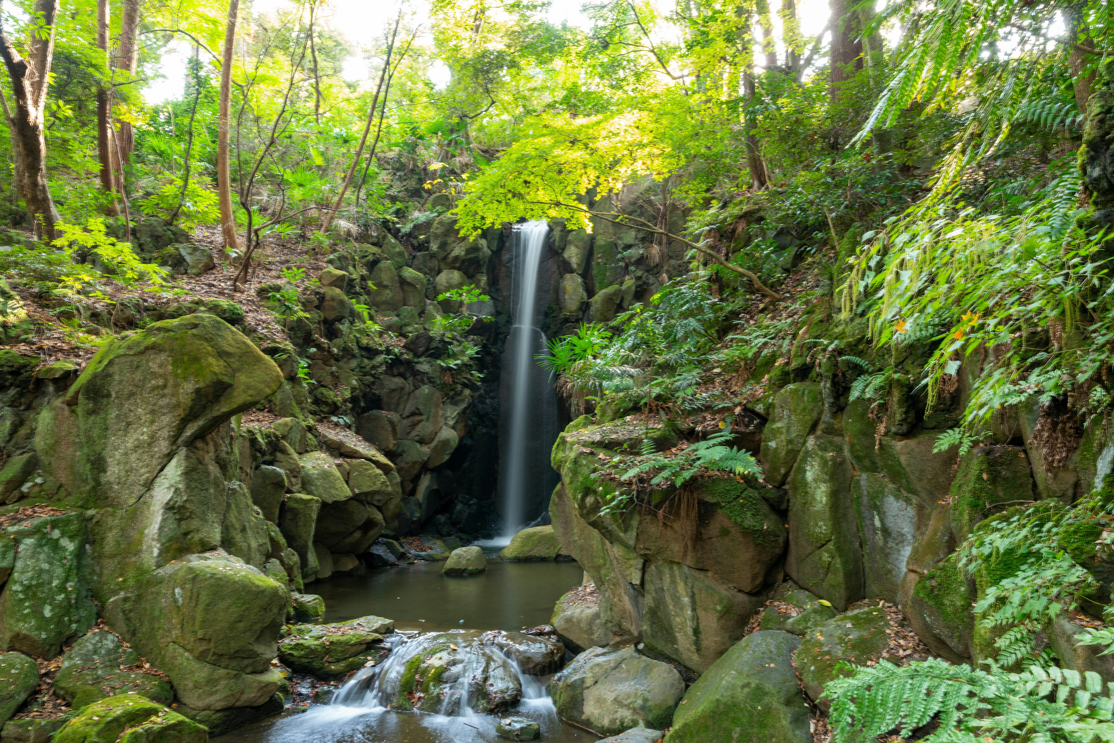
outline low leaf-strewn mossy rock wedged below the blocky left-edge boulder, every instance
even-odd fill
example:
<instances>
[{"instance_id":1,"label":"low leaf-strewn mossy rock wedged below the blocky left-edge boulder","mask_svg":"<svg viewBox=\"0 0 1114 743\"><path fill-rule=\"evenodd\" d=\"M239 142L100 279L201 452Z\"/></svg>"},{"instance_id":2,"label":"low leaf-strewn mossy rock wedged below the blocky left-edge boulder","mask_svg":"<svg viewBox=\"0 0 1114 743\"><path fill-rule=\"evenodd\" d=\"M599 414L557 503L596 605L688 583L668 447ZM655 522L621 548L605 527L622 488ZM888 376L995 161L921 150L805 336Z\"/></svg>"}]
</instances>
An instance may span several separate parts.
<instances>
[{"instance_id":1,"label":"low leaf-strewn mossy rock wedged below the blocky left-edge boulder","mask_svg":"<svg viewBox=\"0 0 1114 743\"><path fill-rule=\"evenodd\" d=\"M91 632L74 643L55 676L55 692L75 710L92 704L106 696L138 694L159 704L174 702L170 682L139 671L125 671L138 666L139 654L110 632Z\"/></svg>"}]
</instances>

